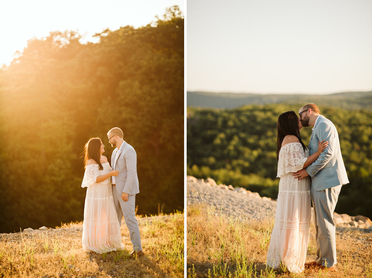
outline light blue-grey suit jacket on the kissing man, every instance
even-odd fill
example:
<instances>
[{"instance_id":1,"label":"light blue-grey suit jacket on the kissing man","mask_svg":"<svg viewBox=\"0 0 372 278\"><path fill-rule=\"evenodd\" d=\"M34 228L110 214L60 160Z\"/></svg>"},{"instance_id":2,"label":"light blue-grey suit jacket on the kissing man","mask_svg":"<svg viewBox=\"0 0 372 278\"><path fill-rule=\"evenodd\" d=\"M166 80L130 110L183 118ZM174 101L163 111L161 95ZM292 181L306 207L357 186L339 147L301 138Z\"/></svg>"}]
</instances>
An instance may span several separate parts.
<instances>
[{"instance_id":1,"label":"light blue-grey suit jacket on the kissing man","mask_svg":"<svg viewBox=\"0 0 372 278\"><path fill-rule=\"evenodd\" d=\"M344 161L341 156L339 134L333 123L324 116L318 116L312 131L309 150L310 155L318 151L319 141L328 141L328 147L310 166L306 168L311 177L311 184L316 191L349 183Z\"/></svg>"}]
</instances>

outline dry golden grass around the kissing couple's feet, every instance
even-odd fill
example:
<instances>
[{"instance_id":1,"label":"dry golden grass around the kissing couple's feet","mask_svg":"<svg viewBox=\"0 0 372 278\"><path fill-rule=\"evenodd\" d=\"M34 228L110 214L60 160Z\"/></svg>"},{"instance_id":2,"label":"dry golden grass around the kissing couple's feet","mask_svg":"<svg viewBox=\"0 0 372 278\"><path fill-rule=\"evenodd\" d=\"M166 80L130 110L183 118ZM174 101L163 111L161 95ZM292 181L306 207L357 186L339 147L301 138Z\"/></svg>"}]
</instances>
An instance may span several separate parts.
<instances>
[{"instance_id":1,"label":"dry golden grass around the kissing couple's feet","mask_svg":"<svg viewBox=\"0 0 372 278\"><path fill-rule=\"evenodd\" d=\"M266 269L266 254L274 223L227 219L209 207L187 207L187 277L370 277L372 231L359 228L336 230L337 272L305 269L301 274L275 273ZM307 261L315 259L315 228L311 226Z\"/></svg>"}]
</instances>

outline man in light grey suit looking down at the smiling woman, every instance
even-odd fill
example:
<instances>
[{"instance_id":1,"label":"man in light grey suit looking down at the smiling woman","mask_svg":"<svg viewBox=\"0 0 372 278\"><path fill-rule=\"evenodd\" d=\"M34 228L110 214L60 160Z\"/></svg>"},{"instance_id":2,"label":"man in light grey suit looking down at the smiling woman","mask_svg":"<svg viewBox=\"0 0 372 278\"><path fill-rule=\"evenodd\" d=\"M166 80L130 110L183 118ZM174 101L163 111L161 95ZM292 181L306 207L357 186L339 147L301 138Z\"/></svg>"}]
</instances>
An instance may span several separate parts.
<instances>
[{"instance_id":1,"label":"man in light grey suit looking down at the smiling woman","mask_svg":"<svg viewBox=\"0 0 372 278\"><path fill-rule=\"evenodd\" d=\"M119 170L119 175L112 178L112 194L114 197L116 213L121 224L124 221L129 230L133 244L133 252L129 258L142 256L140 228L135 217L136 194L140 193L137 176L137 153L134 148L126 143L119 127L114 127L107 133L109 143L116 147L111 156L112 170Z\"/></svg>"}]
</instances>

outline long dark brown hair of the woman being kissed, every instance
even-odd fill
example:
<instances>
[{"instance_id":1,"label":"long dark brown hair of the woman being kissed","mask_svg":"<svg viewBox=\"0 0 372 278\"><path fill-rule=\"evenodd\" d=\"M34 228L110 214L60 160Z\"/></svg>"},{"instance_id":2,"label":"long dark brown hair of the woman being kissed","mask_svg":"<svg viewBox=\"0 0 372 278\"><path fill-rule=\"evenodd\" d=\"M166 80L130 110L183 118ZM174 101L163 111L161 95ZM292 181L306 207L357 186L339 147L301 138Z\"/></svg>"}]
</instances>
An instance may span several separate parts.
<instances>
[{"instance_id":1,"label":"long dark brown hair of the woman being kissed","mask_svg":"<svg viewBox=\"0 0 372 278\"><path fill-rule=\"evenodd\" d=\"M278 139L276 140L276 158L279 161L279 151L286 135L294 135L300 141L305 152L305 144L301 140L300 130L298 129L298 117L295 111L286 111L278 118Z\"/></svg>"}]
</instances>

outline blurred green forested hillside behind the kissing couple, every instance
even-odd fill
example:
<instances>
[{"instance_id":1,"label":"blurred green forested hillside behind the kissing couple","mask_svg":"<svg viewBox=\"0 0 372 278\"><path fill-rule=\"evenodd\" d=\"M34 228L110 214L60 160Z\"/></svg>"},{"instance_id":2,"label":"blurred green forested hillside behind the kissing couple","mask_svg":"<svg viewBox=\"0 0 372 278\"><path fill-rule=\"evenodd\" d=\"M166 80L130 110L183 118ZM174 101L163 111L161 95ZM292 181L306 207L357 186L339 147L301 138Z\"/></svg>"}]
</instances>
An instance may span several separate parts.
<instances>
[{"instance_id":1,"label":"blurred green forested hillside behind the kissing couple","mask_svg":"<svg viewBox=\"0 0 372 278\"><path fill-rule=\"evenodd\" d=\"M278 116L302 104L266 104L236 109L187 109L187 175L211 177L277 198ZM350 184L341 190L336 212L372 217L372 111L320 105L337 127ZM301 129L308 145L311 127Z\"/></svg>"}]
</instances>

